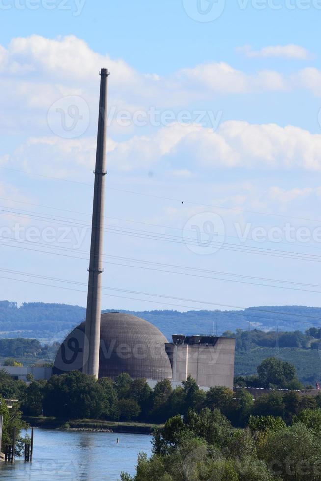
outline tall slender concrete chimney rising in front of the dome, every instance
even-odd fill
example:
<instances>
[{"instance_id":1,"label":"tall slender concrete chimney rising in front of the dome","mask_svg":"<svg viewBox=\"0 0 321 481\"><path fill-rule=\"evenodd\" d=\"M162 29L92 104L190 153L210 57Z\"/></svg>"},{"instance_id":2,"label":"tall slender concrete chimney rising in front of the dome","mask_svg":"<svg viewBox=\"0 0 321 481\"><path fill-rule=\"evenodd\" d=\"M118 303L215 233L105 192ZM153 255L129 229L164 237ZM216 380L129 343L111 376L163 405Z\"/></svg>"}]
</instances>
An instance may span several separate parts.
<instances>
[{"instance_id":1,"label":"tall slender concrete chimney rising in front of the dome","mask_svg":"<svg viewBox=\"0 0 321 481\"><path fill-rule=\"evenodd\" d=\"M88 297L86 311L85 343L83 352L83 373L98 378L101 316L101 285L105 175L106 175L106 130L107 130L107 87L109 72L100 72L100 98L98 115L98 134L96 151L96 168L94 203L91 227L90 264L88 280Z\"/></svg>"}]
</instances>

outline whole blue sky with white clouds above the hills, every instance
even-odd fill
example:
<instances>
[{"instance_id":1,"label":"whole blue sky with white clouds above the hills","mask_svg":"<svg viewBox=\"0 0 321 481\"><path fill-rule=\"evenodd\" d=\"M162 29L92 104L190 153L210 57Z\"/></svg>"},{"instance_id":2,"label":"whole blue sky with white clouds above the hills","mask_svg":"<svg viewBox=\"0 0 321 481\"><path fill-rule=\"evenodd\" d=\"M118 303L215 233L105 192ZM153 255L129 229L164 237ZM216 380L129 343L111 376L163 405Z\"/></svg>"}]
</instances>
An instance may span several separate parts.
<instances>
[{"instance_id":1,"label":"whole blue sky with white clouds above the hills","mask_svg":"<svg viewBox=\"0 0 321 481\"><path fill-rule=\"evenodd\" d=\"M320 306L320 16L317 0L0 1L1 298L86 303L107 67L103 307Z\"/></svg>"}]
</instances>

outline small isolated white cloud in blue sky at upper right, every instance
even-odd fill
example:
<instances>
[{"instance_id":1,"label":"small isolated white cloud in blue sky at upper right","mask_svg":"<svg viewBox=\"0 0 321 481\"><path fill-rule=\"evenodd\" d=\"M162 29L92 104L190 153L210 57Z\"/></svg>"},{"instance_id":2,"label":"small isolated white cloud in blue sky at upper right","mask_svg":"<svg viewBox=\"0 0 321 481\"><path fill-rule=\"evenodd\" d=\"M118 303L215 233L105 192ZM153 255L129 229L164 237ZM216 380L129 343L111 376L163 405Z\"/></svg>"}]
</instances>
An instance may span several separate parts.
<instances>
[{"instance_id":1,"label":"small isolated white cloud in blue sky at upper right","mask_svg":"<svg viewBox=\"0 0 321 481\"><path fill-rule=\"evenodd\" d=\"M248 58L292 58L295 60L309 60L311 54L299 45L275 45L253 50L251 45L238 47L237 52L244 53Z\"/></svg>"}]
</instances>

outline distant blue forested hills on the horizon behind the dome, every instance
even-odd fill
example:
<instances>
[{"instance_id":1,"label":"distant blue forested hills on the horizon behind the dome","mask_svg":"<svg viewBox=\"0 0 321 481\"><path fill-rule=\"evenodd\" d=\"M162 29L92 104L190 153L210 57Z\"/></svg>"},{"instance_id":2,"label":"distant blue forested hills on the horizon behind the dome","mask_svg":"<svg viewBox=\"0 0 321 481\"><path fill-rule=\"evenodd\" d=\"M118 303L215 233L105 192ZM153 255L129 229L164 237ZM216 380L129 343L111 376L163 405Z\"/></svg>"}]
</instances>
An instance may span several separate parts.
<instances>
[{"instance_id":1,"label":"distant blue forested hills on the horizon behind the dome","mask_svg":"<svg viewBox=\"0 0 321 481\"><path fill-rule=\"evenodd\" d=\"M113 309L109 309L113 310ZM116 309L117 310L117 309ZM255 307L244 311L121 311L142 317L155 324L170 339L172 334L206 334L214 329L251 328L282 331L305 331L321 325L321 308L304 306ZM281 313L281 314L280 314ZM66 304L24 303L0 301L0 337L27 337L43 342L59 341L85 317L85 308Z\"/></svg>"}]
</instances>

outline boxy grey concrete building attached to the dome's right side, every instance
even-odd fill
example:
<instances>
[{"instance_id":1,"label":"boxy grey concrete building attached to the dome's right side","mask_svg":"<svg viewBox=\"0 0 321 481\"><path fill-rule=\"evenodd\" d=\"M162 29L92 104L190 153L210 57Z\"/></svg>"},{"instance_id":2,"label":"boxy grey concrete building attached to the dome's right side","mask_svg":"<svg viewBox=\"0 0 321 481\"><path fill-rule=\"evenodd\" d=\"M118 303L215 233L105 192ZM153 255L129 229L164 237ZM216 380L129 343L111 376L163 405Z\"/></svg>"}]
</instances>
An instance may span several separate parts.
<instances>
[{"instance_id":1,"label":"boxy grey concrete building attached to the dome's right side","mask_svg":"<svg viewBox=\"0 0 321 481\"><path fill-rule=\"evenodd\" d=\"M218 338L216 344L166 344L173 381L191 375L199 386L226 386L233 389L235 339Z\"/></svg>"}]
</instances>

